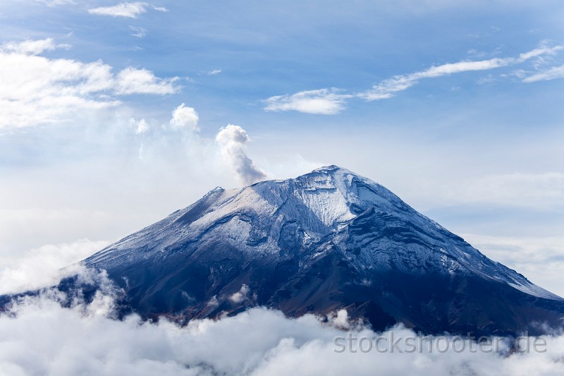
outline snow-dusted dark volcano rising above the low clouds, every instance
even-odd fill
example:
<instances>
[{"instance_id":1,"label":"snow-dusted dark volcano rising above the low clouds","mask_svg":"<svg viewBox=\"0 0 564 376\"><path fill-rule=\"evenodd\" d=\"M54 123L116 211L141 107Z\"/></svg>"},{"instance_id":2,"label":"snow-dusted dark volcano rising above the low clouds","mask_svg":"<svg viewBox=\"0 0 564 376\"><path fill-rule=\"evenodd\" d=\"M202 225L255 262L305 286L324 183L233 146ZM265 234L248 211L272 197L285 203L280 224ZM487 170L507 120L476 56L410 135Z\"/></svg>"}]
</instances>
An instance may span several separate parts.
<instances>
[{"instance_id":1,"label":"snow-dusted dark volcano rising above the low clouds","mask_svg":"<svg viewBox=\"0 0 564 376\"><path fill-rule=\"evenodd\" d=\"M559 296L338 166L215 188L84 263L106 269L144 317L344 308L374 329L517 334L564 316Z\"/></svg>"}]
</instances>

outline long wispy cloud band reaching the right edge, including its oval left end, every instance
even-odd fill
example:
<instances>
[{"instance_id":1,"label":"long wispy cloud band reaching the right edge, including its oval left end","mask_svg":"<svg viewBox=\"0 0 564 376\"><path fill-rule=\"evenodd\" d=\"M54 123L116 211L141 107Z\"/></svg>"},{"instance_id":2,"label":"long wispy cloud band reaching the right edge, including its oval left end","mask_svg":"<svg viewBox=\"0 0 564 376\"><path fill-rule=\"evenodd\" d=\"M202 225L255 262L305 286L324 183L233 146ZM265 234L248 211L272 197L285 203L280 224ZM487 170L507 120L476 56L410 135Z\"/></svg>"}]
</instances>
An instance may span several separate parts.
<instances>
[{"instance_id":1,"label":"long wispy cloud band reaching the right edge, including its oval left end","mask_svg":"<svg viewBox=\"0 0 564 376\"><path fill-rule=\"evenodd\" d=\"M264 99L266 103L265 111L299 111L307 114L334 115L343 111L346 101L352 98L360 98L366 101L375 101L394 97L398 92L409 89L419 83L420 80L427 78L439 78L457 73L489 71L495 68L513 66L525 63L531 59L542 59L543 56L553 56L564 46L546 47L541 46L537 49L524 52L519 56L493 58L479 61L458 61L456 63L446 63L438 66L431 66L424 71L395 75L392 78L381 81L364 92L345 94L343 90L335 87L319 90L306 90L295 94L277 95ZM550 80L564 76L564 66L551 68L543 73L529 76L524 82L534 82L537 80Z\"/></svg>"}]
</instances>

